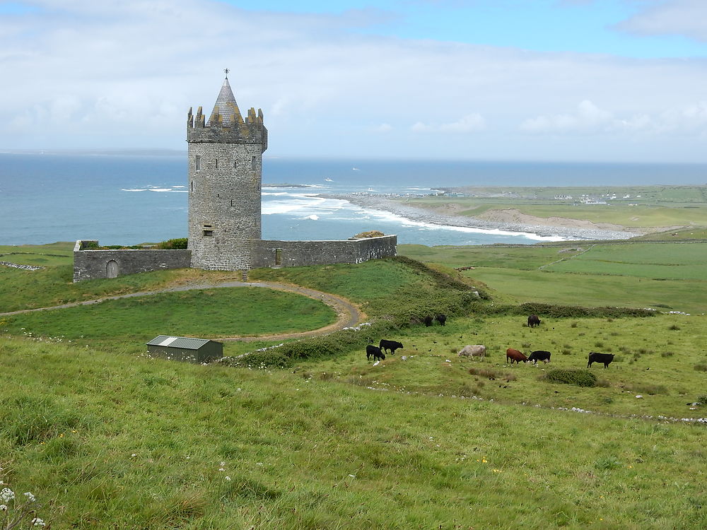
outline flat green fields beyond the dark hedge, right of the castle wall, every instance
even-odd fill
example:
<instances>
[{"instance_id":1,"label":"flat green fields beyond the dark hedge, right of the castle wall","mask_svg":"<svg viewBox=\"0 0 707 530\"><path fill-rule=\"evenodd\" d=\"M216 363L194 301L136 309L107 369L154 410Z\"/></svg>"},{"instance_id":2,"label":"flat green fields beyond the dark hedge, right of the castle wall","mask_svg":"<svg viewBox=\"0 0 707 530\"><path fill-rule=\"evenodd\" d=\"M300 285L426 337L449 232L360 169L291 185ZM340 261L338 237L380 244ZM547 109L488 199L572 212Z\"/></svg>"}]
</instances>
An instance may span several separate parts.
<instances>
[{"instance_id":1,"label":"flat green fields beyond the dark hedge, right of the castle wall","mask_svg":"<svg viewBox=\"0 0 707 530\"><path fill-rule=\"evenodd\" d=\"M532 247L399 245L412 259L474 267L504 301L707 312L703 242L571 242Z\"/></svg>"}]
</instances>

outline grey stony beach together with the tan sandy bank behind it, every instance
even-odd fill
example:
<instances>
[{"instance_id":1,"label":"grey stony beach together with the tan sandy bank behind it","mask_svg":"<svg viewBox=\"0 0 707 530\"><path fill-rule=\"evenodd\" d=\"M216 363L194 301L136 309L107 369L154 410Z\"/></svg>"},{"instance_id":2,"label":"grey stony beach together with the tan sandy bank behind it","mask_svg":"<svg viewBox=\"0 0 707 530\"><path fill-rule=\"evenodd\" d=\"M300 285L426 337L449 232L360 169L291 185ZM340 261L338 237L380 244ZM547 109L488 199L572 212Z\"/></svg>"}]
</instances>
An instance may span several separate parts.
<instances>
[{"instance_id":1,"label":"grey stony beach together with the tan sandy bank behind it","mask_svg":"<svg viewBox=\"0 0 707 530\"><path fill-rule=\"evenodd\" d=\"M526 232L548 237L557 236L566 240L624 240L643 233L617 225L598 225L591 221L557 217L533 218L525 216L513 208L494 211L489 213L487 218L476 218L415 208L376 195L344 194L327 195L327 197L329 199L343 199L368 210L387 211L410 220L443 226Z\"/></svg>"}]
</instances>

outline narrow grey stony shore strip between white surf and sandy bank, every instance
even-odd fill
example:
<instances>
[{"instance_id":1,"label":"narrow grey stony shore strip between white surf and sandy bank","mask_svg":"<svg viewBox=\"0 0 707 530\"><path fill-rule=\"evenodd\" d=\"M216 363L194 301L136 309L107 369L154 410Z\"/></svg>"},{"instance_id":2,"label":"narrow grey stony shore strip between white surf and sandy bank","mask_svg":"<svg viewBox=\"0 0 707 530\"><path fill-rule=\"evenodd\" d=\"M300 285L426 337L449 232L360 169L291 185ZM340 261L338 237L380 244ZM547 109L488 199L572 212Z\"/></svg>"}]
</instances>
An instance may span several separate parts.
<instances>
[{"instance_id":1,"label":"narrow grey stony shore strip between white surf and sandy bank","mask_svg":"<svg viewBox=\"0 0 707 530\"><path fill-rule=\"evenodd\" d=\"M477 230L503 230L522 232L540 237L561 237L564 240L626 240L641 235L642 232L626 230L603 230L601 228L578 228L563 225L541 225L484 220L474 217L452 216L429 211L423 208L407 206L398 201L376 195L358 194L320 194L328 199L340 199L351 204L372 210L382 210L422 223L440 226L476 228Z\"/></svg>"}]
</instances>

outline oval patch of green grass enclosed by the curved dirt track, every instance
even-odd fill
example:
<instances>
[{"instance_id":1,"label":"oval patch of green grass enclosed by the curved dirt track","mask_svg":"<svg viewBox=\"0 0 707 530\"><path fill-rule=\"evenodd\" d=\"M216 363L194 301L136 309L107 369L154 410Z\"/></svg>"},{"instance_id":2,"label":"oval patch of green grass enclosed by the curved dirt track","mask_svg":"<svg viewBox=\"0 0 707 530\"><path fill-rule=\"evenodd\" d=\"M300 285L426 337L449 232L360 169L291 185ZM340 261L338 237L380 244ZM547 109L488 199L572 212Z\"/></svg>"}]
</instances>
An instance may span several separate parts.
<instances>
[{"instance_id":1,"label":"oval patch of green grass enclosed by the curved dirt track","mask_svg":"<svg viewBox=\"0 0 707 530\"><path fill-rule=\"evenodd\" d=\"M157 335L279 334L318 329L337 315L318 300L264 288L219 288L139 298L6 317L12 334L66 339L144 341Z\"/></svg>"}]
</instances>

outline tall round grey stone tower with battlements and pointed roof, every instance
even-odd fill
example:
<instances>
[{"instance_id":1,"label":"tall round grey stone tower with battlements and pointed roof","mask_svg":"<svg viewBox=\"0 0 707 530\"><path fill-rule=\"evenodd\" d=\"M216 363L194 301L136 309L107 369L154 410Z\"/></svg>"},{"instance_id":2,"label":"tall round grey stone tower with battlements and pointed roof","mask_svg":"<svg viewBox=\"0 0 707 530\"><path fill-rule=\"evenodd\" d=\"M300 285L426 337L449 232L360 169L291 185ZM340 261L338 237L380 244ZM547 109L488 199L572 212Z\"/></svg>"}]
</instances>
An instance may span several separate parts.
<instances>
[{"instance_id":1,"label":"tall round grey stone tower with battlements and pointed roof","mask_svg":"<svg viewBox=\"0 0 707 530\"><path fill-rule=\"evenodd\" d=\"M260 187L267 129L262 110L243 116L228 72L209 122L201 107L187 116L189 143L189 249L192 267L252 268L261 239Z\"/></svg>"}]
</instances>

